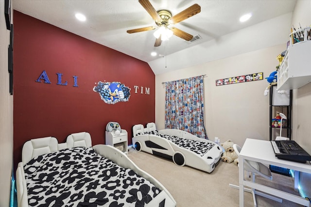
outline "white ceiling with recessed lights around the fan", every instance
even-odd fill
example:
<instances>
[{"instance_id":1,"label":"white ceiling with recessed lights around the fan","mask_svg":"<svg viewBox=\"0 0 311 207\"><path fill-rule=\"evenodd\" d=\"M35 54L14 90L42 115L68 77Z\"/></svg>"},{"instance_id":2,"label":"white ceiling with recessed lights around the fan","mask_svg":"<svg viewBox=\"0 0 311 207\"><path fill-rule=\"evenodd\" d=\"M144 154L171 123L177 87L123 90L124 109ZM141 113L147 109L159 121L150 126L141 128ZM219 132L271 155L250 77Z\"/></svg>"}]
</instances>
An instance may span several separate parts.
<instances>
[{"instance_id":1,"label":"white ceiling with recessed lights around the fan","mask_svg":"<svg viewBox=\"0 0 311 207\"><path fill-rule=\"evenodd\" d=\"M147 62L155 74L160 74L205 60L221 58L209 55L210 58L207 59L207 54L214 54L217 48L222 48L220 44L230 45L226 41L221 41L223 36L247 30L254 25L291 13L296 0L150 0L150 2L155 10L167 9L173 16L194 3L199 4L201 6L199 14L177 23L174 27L193 36L199 34L202 39L188 44L187 41L173 36L155 48L154 31L127 33L126 31L131 29L156 26L138 0L13 0L12 7L21 13ZM75 18L77 12L86 16L85 22L79 22ZM239 22L240 16L250 12L253 16L249 21ZM276 29L277 24L282 22L276 22ZM290 27L289 22L285 24L286 27ZM243 38L254 37L247 35ZM209 47L215 42L218 44L217 47ZM253 42L258 44L256 40ZM251 43L252 41L244 47L252 48ZM158 55L151 56L152 51L156 51ZM190 57L195 51L200 51L200 54L196 54L195 61L184 58ZM237 50L237 53L239 51ZM234 54L235 52L230 52L230 55ZM163 56L171 60L167 67L164 67L166 60L163 60Z\"/></svg>"}]
</instances>

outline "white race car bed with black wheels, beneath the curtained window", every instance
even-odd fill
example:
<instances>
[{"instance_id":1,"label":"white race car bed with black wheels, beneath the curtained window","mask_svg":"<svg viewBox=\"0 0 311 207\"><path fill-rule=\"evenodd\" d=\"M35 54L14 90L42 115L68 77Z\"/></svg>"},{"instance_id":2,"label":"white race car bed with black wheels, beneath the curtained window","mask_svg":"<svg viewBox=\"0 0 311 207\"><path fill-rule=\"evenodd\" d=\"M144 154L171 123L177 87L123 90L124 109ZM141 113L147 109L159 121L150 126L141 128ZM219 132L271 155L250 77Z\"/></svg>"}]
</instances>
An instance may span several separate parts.
<instances>
[{"instance_id":1,"label":"white race car bed with black wheels, beneath the curtained window","mask_svg":"<svg viewBox=\"0 0 311 207\"><path fill-rule=\"evenodd\" d=\"M132 142L137 151L173 159L177 165L188 165L207 173L215 169L223 154L222 147L214 142L178 129L157 131L155 123L148 123L146 128L135 125Z\"/></svg>"}]
</instances>

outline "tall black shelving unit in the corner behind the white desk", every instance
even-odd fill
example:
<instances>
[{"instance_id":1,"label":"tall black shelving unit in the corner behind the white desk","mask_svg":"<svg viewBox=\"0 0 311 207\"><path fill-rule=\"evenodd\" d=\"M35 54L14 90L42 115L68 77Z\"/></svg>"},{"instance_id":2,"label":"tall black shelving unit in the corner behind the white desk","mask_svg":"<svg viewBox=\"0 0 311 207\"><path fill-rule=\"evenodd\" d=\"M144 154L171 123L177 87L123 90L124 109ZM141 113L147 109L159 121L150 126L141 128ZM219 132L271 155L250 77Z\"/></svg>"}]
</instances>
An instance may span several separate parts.
<instances>
[{"instance_id":1,"label":"tall black shelving unit in the corner behind the white desk","mask_svg":"<svg viewBox=\"0 0 311 207\"><path fill-rule=\"evenodd\" d=\"M273 135L274 130L280 131L280 128L272 127L272 119L276 116L276 111L279 109L280 112L284 113L287 116L285 126L282 129L286 129L286 137L292 140L292 106L293 106L293 90L290 90L290 99L288 105L273 105L273 92L275 86L270 87L270 116L269 116L269 128L270 128L270 141L274 140ZM276 89L276 88L275 88ZM282 132L283 133L283 132ZM282 134L283 135L283 134Z\"/></svg>"}]
</instances>

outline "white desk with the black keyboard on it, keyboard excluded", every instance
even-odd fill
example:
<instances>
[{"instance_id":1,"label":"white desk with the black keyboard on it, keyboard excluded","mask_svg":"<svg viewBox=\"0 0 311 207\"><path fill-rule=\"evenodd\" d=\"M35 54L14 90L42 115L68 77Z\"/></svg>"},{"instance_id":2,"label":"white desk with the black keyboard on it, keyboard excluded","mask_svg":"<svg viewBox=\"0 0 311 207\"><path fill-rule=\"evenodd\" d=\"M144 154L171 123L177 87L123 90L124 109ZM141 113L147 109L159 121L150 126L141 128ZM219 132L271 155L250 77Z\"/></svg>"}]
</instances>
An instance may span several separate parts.
<instances>
[{"instance_id":1,"label":"white desk with the black keyboard on it, keyboard excluded","mask_svg":"<svg viewBox=\"0 0 311 207\"><path fill-rule=\"evenodd\" d=\"M269 165L275 165L311 174L311 164L308 162L300 163L289 160L277 159L270 141L246 139L239 155L240 207L244 206L244 186L248 186L259 191L263 191L277 197L290 200L303 206L311 207L310 202L300 196L276 190L274 188L267 187L258 183L253 183L248 180L244 180L244 159L254 160Z\"/></svg>"}]
</instances>

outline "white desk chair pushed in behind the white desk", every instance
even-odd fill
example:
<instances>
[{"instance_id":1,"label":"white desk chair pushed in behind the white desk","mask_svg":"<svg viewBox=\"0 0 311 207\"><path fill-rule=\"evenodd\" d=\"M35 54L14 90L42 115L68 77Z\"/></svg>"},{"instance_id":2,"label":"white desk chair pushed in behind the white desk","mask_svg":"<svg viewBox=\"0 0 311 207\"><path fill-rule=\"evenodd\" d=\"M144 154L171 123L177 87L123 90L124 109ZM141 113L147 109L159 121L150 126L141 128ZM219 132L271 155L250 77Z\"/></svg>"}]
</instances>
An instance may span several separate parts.
<instances>
[{"instance_id":1,"label":"white desk chair pushed in behind the white desk","mask_svg":"<svg viewBox=\"0 0 311 207\"><path fill-rule=\"evenodd\" d=\"M238 154L240 154L241 147L238 144L233 144L234 151ZM239 166L239 164L238 164ZM268 180L272 180L272 174L270 169L265 166L264 164L260 162L255 162L251 160L244 160L244 170L248 172L248 176L251 177L251 181L255 182L255 174L260 175ZM240 186L229 184L230 187L235 188L235 189L240 189ZM277 201L279 203L282 203L282 199L275 197L273 195L261 192L261 191L256 191L255 189L248 189L244 188L244 191L250 192L253 194L253 201L254 201L254 207L257 207L257 202L256 202L256 195L260 195L265 198L269 198L271 200Z\"/></svg>"}]
</instances>

